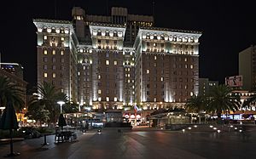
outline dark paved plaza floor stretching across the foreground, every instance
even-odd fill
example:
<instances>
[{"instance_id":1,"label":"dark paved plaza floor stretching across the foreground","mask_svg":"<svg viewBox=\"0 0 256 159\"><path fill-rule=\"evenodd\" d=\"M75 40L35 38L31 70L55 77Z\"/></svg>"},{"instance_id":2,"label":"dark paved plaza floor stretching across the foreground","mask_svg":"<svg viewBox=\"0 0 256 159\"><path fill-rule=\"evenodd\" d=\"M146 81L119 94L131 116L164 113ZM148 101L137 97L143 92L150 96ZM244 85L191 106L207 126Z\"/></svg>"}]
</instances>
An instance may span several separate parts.
<instances>
[{"instance_id":1,"label":"dark paved plaza floor stretching across the foreground","mask_svg":"<svg viewBox=\"0 0 256 159\"><path fill-rule=\"evenodd\" d=\"M143 129L119 133L79 133L75 142L41 146L44 138L15 142L20 156L13 158L253 158L256 156L256 134L203 133ZM9 153L9 145L0 145L1 157Z\"/></svg>"}]
</instances>

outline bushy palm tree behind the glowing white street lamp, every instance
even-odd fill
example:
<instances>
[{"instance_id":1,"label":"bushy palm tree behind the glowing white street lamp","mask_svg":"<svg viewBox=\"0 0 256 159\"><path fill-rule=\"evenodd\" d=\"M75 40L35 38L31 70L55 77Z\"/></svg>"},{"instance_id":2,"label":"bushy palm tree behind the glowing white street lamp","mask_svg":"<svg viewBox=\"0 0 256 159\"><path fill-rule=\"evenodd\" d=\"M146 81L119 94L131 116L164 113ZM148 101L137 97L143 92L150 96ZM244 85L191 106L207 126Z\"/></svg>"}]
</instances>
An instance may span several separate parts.
<instances>
[{"instance_id":1,"label":"bushy palm tree behind the glowing white street lamp","mask_svg":"<svg viewBox=\"0 0 256 159\"><path fill-rule=\"evenodd\" d=\"M45 110L49 111L50 122L56 122L60 114L60 107L57 105L58 100L67 102L67 95L61 93L53 84L44 82L43 84L38 84L37 98L33 98L30 105L43 106Z\"/></svg>"}]
</instances>

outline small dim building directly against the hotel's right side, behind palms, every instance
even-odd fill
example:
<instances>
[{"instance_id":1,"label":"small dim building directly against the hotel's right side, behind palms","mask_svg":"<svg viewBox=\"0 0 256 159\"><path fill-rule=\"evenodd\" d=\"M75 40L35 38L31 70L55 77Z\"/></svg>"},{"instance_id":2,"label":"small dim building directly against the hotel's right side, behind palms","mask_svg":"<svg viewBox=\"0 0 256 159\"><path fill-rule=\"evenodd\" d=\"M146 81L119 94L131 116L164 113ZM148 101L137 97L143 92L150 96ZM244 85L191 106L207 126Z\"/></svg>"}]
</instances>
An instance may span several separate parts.
<instances>
[{"instance_id":1,"label":"small dim building directly against the hotel's right side, behind palms","mask_svg":"<svg viewBox=\"0 0 256 159\"><path fill-rule=\"evenodd\" d=\"M208 78L199 78L199 95L210 95L212 88L218 86L218 81L209 81Z\"/></svg>"}]
</instances>

